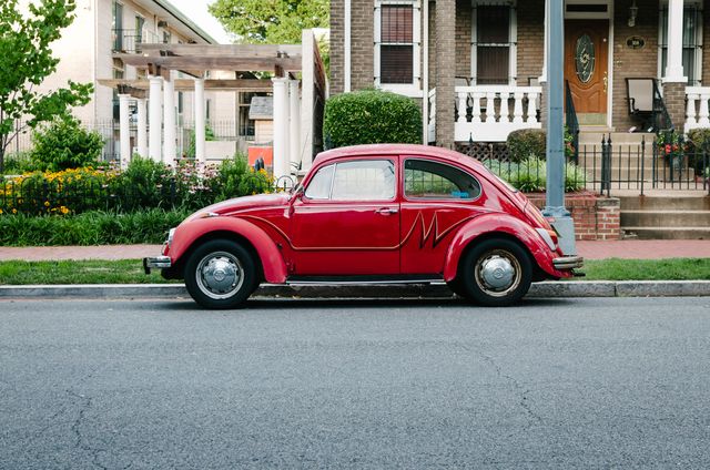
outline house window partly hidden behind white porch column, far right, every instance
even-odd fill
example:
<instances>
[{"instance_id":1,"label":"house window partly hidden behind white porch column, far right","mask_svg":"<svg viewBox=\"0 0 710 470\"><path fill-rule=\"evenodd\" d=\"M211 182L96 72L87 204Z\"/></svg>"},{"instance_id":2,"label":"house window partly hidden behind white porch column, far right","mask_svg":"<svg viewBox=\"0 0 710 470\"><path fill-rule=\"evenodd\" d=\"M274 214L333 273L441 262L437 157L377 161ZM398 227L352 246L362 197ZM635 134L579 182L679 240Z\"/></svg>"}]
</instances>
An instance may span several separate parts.
<instances>
[{"instance_id":1,"label":"house window partly hidden behind white porch column, far right","mask_svg":"<svg viewBox=\"0 0 710 470\"><path fill-rule=\"evenodd\" d=\"M658 75L666 75L668 63L668 4L661 7L659 14L660 38ZM689 85L700 85L702 79L702 10L698 4L687 4L683 8L683 73L688 76Z\"/></svg>"}]
</instances>

